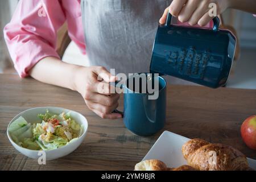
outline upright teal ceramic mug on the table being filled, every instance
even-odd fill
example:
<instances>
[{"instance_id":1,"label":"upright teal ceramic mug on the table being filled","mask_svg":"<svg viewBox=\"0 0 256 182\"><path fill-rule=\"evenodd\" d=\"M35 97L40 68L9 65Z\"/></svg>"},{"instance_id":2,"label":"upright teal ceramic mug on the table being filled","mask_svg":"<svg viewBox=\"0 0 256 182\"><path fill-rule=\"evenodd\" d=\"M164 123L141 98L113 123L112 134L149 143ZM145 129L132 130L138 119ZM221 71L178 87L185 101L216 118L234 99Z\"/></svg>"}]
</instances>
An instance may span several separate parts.
<instances>
[{"instance_id":1,"label":"upright teal ceramic mug on the table being filled","mask_svg":"<svg viewBox=\"0 0 256 182\"><path fill-rule=\"evenodd\" d=\"M121 88L124 93L124 110L123 112L115 110L115 113L123 114L123 122L128 130L139 136L150 136L163 129L166 121L166 80L163 77L156 76L152 79L152 90L143 89L143 85L148 87L148 84L143 84L140 80L139 88L136 88L131 80L141 77L148 73L135 74L127 78L123 83L117 81L110 83L116 88ZM153 81L154 80L154 81ZM131 81L131 82L130 82ZM148 80L146 79L148 82ZM154 86L157 85L157 86ZM143 90L146 92L143 92ZM151 90L151 91L152 91Z\"/></svg>"}]
</instances>

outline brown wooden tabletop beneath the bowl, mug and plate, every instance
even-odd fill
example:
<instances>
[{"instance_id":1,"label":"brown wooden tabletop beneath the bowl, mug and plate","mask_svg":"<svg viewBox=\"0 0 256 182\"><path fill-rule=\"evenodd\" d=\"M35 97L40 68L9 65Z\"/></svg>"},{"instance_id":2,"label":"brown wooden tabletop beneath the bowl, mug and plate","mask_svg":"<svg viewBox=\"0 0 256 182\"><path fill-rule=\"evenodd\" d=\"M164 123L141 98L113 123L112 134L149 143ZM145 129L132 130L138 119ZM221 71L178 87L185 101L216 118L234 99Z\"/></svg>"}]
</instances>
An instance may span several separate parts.
<instances>
[{"instance_id":1,"label":"brown wooden tabletop beneath the bowl, mug and plate","mask_svg":"<svg viewBox=\"0 0 256 182\"><path fill-rule=\"evenodd\" d=\"M169 85L166 126L158 134L143 138L131 134L122 119L99 118L71 90L15 75L0 75L0 85L0 170L131 170L164 130L229 144L256 159L256 151L247 148L240 135L242 121L256 114L256 90ZM79 111L89 122L88 135L76 151L41 166L16 151L6 135L7 125L16 114L38 106Z\"/></svg>"}]
</instances>

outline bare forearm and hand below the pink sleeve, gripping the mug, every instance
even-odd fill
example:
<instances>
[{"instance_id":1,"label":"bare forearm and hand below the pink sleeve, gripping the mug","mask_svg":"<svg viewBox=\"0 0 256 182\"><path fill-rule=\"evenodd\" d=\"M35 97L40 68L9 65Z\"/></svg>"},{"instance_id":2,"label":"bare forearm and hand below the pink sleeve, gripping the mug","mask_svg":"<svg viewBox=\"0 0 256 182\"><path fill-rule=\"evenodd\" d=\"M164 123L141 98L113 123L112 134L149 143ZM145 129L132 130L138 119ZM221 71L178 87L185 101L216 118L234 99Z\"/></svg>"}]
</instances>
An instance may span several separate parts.
<instances>
[{"instance_id":1,"label":"bare forearm and hand below the pink sleeve, gripping the mug","mask_svg":"<svg viewBox=\"0 0 256 182\"><path fill-rule=\"evenodd\" d=\"M114 82L116 78L105 68L80 67L64 63L56 57L45 57L31 68L30 75L47 84L76 90L89 109L102 118L122 117L121 114L112 113L118 106L119 94L110 93L108 82Z\"/></svg>"}]
</instances>

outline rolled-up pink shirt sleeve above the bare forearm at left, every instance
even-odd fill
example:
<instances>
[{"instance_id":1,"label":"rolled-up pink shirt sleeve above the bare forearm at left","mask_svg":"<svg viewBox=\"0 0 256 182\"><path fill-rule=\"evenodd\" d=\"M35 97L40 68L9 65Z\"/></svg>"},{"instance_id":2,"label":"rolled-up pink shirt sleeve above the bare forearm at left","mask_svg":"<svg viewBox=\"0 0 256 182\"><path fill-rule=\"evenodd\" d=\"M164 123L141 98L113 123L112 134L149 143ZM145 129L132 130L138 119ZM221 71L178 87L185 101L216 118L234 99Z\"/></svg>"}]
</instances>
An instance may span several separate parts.
<instances>
[{"instance_id":1,"label":"rolled-up pink shirt sleeve above the bare forearm at left","mask_svg":"<svg viewBox=\"0 0 256 182\"><path fill-rule=\"evenodd\" d=\"M47 56L58 57L56 31L65 22L59 0L20 0L4 35L20 77Z\"/></svg>"}]
</instances>

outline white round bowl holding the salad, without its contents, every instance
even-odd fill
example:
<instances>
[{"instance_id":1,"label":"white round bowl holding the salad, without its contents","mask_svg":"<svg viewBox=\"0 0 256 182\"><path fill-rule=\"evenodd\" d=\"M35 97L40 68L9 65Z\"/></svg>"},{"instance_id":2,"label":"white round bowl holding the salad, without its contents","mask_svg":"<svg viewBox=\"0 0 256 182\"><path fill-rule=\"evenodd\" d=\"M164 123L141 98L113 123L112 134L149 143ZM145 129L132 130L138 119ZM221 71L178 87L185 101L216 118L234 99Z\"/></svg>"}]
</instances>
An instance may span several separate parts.
<instances>
[{"instance_id":1,"label":"white round bowl holding the salad, without its contents","mask_svg":"<svg viewBox=\"0 0 256 182\"><path fill-rule=\"evenodd\" d=\"M46 113L46 110L49 110L49 113L56 113L56 114L60 114L60 113L68 113L69 111L71 111L71 117L73 119L75 119L75 121L77 123L79 123L79 125L84 125L84 131L82 132L82 135L77 139L74 140L73 142L67 144L67 146L63 146L60 148L56 148L53 150L47 150L45 151L46 153L46 160L54 160L57 158L61 158L65 155L70 154L71 152L73 152L74 150L76 150L77 147L80 146L80 144L82 143L82 141L85 138L87 129L88 129L88 122L87 119L80 113L77 113L75 111L72 110L68 110L68 109L64 109L61 107L35 107L32 109L28 109L23 111L22 113L19 113L18 115L16 115L11 122L9 123L8 127L7 127L7 136L11 142L11 144L13 144L14 148L16 148L16 150L18 150L20 153L28 156L29 158L32 159L38 159L40 156L42 156L42 153L39 153L38 150L30 150L27 148L23 148L20 147L18 144L16 144L13 139L10 136L9 133L9 126L12 122L14 122L16 119L18 119L20 116L22 116L24 119L26 119L26 121L28 123L39 123L41 122L40 119L38 118L38 114L44 114Z\"/></svg>"}]
</instances>

